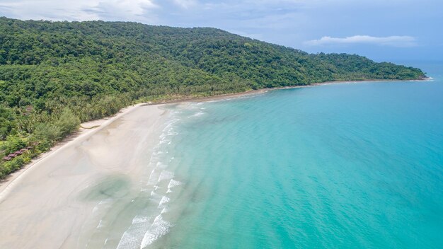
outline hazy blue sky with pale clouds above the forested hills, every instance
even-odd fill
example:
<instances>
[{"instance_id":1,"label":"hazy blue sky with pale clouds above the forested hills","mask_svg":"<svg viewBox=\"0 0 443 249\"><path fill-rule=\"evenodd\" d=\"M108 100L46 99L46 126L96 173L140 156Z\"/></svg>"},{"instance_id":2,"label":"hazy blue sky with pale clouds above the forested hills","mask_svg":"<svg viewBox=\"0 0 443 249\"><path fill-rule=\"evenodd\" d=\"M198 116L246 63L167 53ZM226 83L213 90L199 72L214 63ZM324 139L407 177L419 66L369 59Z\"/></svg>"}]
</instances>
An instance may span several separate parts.
<instances>
[{"instance_id":1,"label":"hazy blue sky with pale clouds above the forested hills","mask_svg":"<svg viewBox=\"0 0 443 249\"><path fill-rule=\"evenodd\" d=\"M307 52L443 60L443 0L0 0L0 16L214 27Z\"/></svg>"}]
</instances>

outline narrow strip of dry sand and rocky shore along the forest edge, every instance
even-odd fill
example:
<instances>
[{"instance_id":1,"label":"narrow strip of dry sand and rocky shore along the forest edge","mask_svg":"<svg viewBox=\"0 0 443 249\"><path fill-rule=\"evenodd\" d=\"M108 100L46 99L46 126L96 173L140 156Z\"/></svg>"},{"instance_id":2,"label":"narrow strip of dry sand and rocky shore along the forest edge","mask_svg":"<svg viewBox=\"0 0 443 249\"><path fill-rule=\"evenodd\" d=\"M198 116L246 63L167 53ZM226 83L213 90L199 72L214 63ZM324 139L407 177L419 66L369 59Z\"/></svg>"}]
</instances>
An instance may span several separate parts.
<instances>
[{"instance_id":1,"label":"narrow strip of dry sand and rocky shore along the forest edge","mask_svg":"<svg viewBox=\"0 0 443 249\"><path fill-rule=\"evenodd\" d=\"M430 80L432 80L432 78L428 77L425 79L415 79L415 80L408 80L408 81L430 81ZM11 184L15 185L14 182L16 180L18 180L19 178L21 178L21 175L26 173L26 171L30 170L30 168L33 168L33 166L38 165L40 162L44 161L45 158L52 156L52 154L57 154L57 151L64 149L65 146L69 146L69 144L73 143L77 139L80 139L81 137L87 137L88 135L92 135L93 133L98 132L100 129L103 129L104 127L110 125L112 122L114 122L118 118L126 115L129 112L132 112L132 110L134 110L135 108L137 108L139 106L224 100L226 98L239 98L239 97L246 96L246 95L267 93L268 91L277 91L277 90L293 89L293 88L307 88L307 87L313 87L313 86L323 86L323 85L331 85L331 84L339 84L339 83L365 83L365 82L389 82L389 81L408 82L408 81L401 81L401 80L326 81L326 82L322 82L322 83L311 83L309 85L282 86L282 87L277 87L277 88L262 88L262 89L257 89L257 90L244 91L241 93L226 93L226 94L221 94L221 95L195 97L195 98L185 97L185 98L178 98L178 99L173 99L173 100L137 103L134 105L130 105L130 106L127 106L126 108L122 108L115 115L112 115L109 117L104 117L99 120L91 120L88 122L81 123L79 130L77 132L74 132L73 134L64 138L62 141L59 141L57 144L52 146L52 148L49 151L47 151L43 154L40 154L40 156L38 156L36 158L33 158L33 160L30 161L30 163L26 164L20 170L17 170L16 172L11 173L11 175L8 175L5 179L0 180L0 203L3 201L5 196L8 194L7 190L8 190L8 188L10 188L10 185ZM5 191L6 191L6 194L5 194Z\"/></svg>"}]
</instances>

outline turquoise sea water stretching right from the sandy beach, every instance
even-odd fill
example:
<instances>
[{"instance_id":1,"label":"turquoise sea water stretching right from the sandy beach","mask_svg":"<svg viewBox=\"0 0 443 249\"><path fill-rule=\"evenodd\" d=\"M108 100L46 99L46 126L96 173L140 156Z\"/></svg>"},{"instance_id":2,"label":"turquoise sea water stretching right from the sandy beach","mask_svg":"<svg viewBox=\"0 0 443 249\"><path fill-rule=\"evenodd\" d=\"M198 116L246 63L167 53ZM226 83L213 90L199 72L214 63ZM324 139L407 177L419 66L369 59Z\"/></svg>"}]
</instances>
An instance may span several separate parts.
<instances>
[{"instance_id":1,"label":"turquoise sea water stretching right from the sandy beach","mask_svg":"<svg viewBox=\"0 0 443 249\"><path fill-rule=\"evenodd\" d=\"M443 248L442 69L171 106L152 246Z\"/></svg>"}]
</instances>

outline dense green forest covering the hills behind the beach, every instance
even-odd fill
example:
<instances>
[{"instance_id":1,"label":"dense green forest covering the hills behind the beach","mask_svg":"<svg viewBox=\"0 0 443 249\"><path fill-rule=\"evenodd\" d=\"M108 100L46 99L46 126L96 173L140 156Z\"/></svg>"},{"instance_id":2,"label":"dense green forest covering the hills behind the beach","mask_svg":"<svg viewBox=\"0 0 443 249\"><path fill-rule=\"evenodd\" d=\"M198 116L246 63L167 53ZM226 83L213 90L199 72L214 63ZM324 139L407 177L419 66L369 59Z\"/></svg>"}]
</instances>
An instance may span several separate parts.
<instances>
[{"instance_id":1,"label":"dense green forest covering the hills behind the beach","mask_svg":"<svg viewBox=\"0 0 443 249\"><path fill-rule=\"evenodd\" d=\"M134 103L424 77L412 67L309 54L215 28L0 18L0 179L80 122Z\"/></svg>"}]
</instances>

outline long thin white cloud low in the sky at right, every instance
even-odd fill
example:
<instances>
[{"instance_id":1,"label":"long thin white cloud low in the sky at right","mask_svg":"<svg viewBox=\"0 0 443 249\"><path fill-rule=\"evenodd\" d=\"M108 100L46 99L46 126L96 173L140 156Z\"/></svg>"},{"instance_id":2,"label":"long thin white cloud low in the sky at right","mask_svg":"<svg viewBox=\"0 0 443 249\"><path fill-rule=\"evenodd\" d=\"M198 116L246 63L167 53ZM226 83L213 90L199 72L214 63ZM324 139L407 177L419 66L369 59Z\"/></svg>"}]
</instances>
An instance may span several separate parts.
<instances>
[{"instance_id":1,"label":"long thin white cloud low in the sky at right","mask_svg":"<svg viewBox=\"0 0 443 249\"><path fill-rule=\"evenodd\" d=\"M412 36L386 36L386 37L374 37L370 35L354 35L344 38L323 36L318 40L309 40L305 42L306 45L318 46L318 45L352 45L352 44L370 44L370 45L383 45L391 47L413 47L417 45L415 37Z\"/></svg>"}]
</instances>

